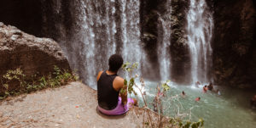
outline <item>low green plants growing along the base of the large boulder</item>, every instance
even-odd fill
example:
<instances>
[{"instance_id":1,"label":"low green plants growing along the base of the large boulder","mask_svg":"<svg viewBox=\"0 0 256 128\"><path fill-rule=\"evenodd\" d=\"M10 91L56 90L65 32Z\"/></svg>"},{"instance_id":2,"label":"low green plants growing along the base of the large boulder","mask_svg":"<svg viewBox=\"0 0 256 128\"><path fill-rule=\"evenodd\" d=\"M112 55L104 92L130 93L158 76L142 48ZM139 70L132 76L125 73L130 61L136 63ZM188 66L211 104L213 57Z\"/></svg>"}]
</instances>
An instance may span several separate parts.
<instances>
[{"instance_id":1,"label":"low green plants growing along the base of the large boulder","mask_svg":"<svg viewBox=\"0 0 256 128\"><path fill-rule=\"evenodd\" d=\"M68 70L61 70L54 66L54 71L47 76L26 76L18 68L16 70L8 70L5 75L0 77L0 80L3 85L3 92L0 92L0 100L3 100L6 97L17 96L21 93L36 92L48 87L62 86L67 84L67 82L77 81L78 77Z\"/></svg>"}]
</instances>

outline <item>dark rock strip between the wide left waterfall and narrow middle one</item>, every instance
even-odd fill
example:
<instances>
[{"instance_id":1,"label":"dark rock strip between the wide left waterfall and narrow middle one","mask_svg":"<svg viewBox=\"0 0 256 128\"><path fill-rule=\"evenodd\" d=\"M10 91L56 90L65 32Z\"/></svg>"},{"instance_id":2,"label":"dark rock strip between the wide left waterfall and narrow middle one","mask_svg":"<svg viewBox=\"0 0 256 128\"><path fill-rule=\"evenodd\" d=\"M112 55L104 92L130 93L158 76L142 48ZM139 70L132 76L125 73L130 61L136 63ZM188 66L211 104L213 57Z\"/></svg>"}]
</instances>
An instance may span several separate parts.
<instances>
[{"instance_id":1,"label":"dark rock strip between the wide left waterfall and narrow middle one","mask_svg":"<svg viewBox=\"0 0 256 128\"><path fill-rule=\"evenodd\" d=\"M148 60L154 72L160 72L157 55L158 42L158 19L160 18L160 8L164 8L163 1L141 0L140 7L140 24L142 31L143 46L148 54ZM160 75L154 75L149 79L160 79Z\"/></svg>"}]
</instances>

